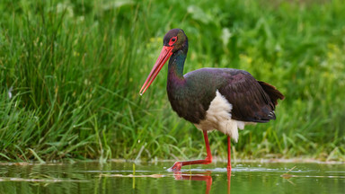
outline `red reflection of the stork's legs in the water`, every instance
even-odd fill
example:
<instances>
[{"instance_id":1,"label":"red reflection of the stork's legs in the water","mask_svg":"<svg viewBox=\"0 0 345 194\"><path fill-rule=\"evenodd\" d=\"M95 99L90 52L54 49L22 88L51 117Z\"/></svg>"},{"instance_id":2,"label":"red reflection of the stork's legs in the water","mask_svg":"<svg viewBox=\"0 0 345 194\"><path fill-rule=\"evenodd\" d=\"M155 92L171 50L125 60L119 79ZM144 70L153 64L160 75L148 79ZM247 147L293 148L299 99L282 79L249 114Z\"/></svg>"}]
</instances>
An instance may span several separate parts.
<instances>
[{"instance_id":1,"label":"red reflection of the stork's legs in the water","mask_svg":"<svg viewBox=\"0 0 345 194\"><path fill-rule=\"evenodd\" d=\"M206 191L205 193L209 193L212 186L212 176L211 172L203 172L203 173L186 173L186 172L174 172L173 176L175 180L179 181L205 181L206 182ZM231 186L231 171L227 171L227 193L230 194L230 186Z\"/></svg>"}]
</instances>

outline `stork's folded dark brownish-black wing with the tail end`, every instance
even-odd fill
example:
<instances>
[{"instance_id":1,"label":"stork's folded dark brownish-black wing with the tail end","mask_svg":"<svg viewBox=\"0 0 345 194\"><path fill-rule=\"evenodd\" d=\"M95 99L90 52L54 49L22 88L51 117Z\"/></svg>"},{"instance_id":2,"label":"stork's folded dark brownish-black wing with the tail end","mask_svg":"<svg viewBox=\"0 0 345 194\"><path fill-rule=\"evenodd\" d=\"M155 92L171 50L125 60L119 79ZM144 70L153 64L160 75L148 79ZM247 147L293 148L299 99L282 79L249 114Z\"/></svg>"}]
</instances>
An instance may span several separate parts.
<instances>
[{"instance_id":1,"label":"stork's folded dark brownish-black wing with the tail end","mask_svg":"<svg viewBox=\"0 0 345 194\"><path fill-rule=\"evenodd\" d=\"M249 122L276 119L274 110L278 99L284 99L282 93L270 84L257 81L248 72L232 69L225 73L226 84L218 91L233 105L232 119Z\"/></svg>"}]
</instances>

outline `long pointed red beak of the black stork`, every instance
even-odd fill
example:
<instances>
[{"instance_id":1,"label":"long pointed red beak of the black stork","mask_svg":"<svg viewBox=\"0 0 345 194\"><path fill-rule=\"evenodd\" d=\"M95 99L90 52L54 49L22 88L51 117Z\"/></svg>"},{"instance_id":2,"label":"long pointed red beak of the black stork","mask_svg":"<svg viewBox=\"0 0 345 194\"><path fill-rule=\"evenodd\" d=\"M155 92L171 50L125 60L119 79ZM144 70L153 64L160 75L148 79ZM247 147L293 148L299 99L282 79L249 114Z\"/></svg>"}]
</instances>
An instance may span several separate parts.
<instances>
[{"instance_id":1,"label":"long pointed red beak of the black stork","mask_svg":"<svg viewBox=\"0 0 345 194\"><path fill-rule=\"evenodd\" d=\"M162 67L164 66L165 62L173 55L173 47L164 46L162 48L161 54L155 61L155 66L152 68L150 74L147 76L145 83L140 89L140 95L143 95L147 88L154 82L155 77L158 75L159 71L161 71Z\"/></svg>"}]
</instances>

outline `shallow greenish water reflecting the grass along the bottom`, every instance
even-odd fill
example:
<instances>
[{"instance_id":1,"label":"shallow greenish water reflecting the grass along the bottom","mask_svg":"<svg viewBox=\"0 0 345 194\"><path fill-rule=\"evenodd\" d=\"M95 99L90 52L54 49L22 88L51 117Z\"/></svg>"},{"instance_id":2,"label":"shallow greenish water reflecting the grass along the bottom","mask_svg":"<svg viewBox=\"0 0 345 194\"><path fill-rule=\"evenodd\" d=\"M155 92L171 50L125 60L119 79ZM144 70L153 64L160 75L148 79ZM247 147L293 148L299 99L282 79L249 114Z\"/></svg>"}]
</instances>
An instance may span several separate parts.
<instances>
[{"instance_id":1,"label":"shallow greenish water reflecting the grass along the bottom","mask_svg":"<svg viewBox=\"0 0 345 194\"><path fill-rule=\"evenodd\" d=\"M226 163L171 165L0 163L0 193L345 193L345 164L234 163L231 174Z\"/></svg>"}]
</instances>

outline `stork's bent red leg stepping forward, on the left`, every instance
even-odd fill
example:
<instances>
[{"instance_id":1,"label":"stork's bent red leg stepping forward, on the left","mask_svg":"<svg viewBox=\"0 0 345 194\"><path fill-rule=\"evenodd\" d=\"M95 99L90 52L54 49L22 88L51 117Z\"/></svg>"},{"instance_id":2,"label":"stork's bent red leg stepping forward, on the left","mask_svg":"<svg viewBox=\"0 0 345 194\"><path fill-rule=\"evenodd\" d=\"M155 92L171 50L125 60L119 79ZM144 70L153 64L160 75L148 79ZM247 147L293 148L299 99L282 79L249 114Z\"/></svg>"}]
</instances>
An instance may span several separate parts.
<instances>
[{"instance_id":1,"label":"stork's bent red leg stepping forward, on the left","mask_svg":"<svg viewBox=\"0 0 345 194\"><path fill-rule=\"evenodd\" d=\"M181 167L184 165L212 163L212 154L211 154L211 151L209 149L209 143L208 143L208 132L203 131L203 133L204 133L204 139L205 139L205 145L206 145L206 152L208 154L208 156L206 156L205 160L176 162L173 164L173 167L170 168L171 171L179 172L179 171L181 171Z\"/></svg>"}]
</instances>

